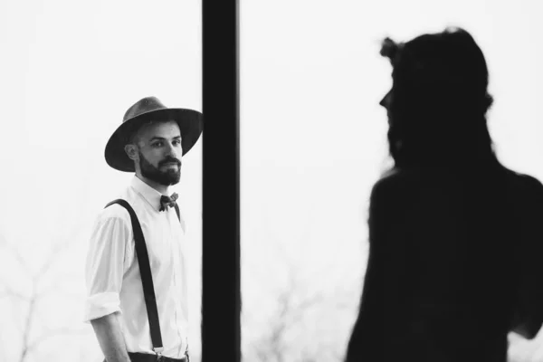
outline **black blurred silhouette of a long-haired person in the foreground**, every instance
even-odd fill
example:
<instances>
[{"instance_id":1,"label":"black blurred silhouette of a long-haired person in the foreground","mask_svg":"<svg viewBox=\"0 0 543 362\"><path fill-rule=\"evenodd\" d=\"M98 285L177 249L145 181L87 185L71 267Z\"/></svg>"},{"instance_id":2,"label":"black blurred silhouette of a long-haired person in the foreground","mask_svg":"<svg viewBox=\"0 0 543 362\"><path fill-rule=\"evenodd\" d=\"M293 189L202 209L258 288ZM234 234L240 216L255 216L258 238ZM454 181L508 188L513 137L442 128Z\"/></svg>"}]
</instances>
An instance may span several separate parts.
<instances>
[{"instance_id":1,"label":"black blurred silhouette of a long-haired person in the foreground","mask_svg":"<svg viewBox=\"0 0 543 362\"><path fill-rule=\"evenodd\" d=\"M506 361L543 316L543 186L503 167L486 61L460 28L383 42L394 167L373 187L369 258L346 360Z\"/></svg>"}]
</instances>

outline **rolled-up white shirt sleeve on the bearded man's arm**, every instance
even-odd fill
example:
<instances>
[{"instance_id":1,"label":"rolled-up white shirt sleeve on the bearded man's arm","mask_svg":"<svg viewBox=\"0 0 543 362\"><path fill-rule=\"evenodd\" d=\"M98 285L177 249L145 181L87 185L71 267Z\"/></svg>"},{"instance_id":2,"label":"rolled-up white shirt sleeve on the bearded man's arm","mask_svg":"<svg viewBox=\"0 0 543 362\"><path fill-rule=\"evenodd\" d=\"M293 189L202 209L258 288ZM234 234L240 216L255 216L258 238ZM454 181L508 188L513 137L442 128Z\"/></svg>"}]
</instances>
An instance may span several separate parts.
<instances>
[{"instance_id":1,"label":"rolled-up white shirt sleeve on the bearded man's arm","mask_svg":"<svg viewBox=\"0 0 543 362\"><path fill-rule=\"evenodd\" d=\"M125 269L125 252L131 237L129 224L120 216L101 217L96 222L85 265L85 322L121 312L119 292Z\"/></svg>"}]
</instances>

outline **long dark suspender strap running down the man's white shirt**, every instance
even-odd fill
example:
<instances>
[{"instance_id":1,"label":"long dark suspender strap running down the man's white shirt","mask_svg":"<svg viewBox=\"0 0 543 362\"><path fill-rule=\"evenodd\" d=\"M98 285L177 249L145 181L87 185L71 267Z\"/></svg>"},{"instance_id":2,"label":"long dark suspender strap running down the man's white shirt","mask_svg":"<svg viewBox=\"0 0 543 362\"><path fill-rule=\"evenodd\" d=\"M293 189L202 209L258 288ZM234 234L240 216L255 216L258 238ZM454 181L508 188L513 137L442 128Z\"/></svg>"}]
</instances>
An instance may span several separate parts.
<instances>
[{"instance_id":1,"label":"long dark suspender strap running down the man's white shirt","mask_svg":"<svg viewBox=\"0 0 543 362\"><path fill-rule=\"evenodd\" d=\"M157 298L155 297L155 287L153 285L153 277L151 275L151 267L149 265L149 255L141 225L138 221L138 216L134 212L132 206L126 200L117 199L110 202L106 207L118 204L127 209L132 222L132 231L134 233L134 242L136 243L136 254L138 255L139 273L141 274L141 283L143 284L143 294L145 297L145 305L148 311L149 329L151 332L151 341L153 349L157 354L160 354L164 349L162 346L162 336L160 334L160 323L158 321ZM176 205L177 206L177 205ZM179 216L178 208L176 207L177 216Z\"/></svg>"}]
</instances>

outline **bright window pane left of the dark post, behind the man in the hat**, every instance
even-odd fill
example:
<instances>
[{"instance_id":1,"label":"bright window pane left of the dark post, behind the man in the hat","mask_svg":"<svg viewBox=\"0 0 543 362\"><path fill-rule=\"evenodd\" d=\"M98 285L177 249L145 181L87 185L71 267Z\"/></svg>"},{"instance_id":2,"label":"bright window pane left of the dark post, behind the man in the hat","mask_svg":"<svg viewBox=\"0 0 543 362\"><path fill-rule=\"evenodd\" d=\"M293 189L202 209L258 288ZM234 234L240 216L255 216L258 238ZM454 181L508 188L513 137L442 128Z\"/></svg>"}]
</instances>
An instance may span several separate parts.
<instances>
[{"instance_id":1,"label":"bright window pane left of the dark post, behind the man in the hat","mask_svg":"<svg viewBox=\"0 0 543 362\"><path fill-rule=\"evenodd\" d=\"M97 339L82 322L85 255L97 214L132 177L108 167L104 148L144 97L201 110L201 2L8 0L0 24L0 360L23 360L26 345L28 362L100 361ZM176 186L191 256L195 361L201 143L183 158Z\"/></svg>"}]
</instances>

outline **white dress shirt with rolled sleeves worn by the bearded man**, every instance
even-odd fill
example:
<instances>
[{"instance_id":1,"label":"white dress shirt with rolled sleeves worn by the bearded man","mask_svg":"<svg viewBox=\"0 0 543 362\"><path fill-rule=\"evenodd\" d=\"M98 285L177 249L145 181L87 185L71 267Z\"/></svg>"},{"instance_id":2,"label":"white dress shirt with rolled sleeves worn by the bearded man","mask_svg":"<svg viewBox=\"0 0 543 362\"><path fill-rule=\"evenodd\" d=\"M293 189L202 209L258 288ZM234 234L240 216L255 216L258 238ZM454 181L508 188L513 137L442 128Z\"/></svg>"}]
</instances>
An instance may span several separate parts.
<instances>
[{"instance_id":1,"label":"white dress shirt with rolled sleeves worn by the bearded man","mask_svg":"<svg viewBox=\"0 0 543 362\"><path fill-rule=\"evenodd\" d=\"M188 333L185 231L173 207L158 211L160 196L134 176L119 198L128 201L138 215L147 244L164 344L162 355L181 358ZM85 275L85 321L119 311L127 350L154 354L132 224L124 207L110 205L100 212L90 237Z\"/></svg>"}]
</instances>

